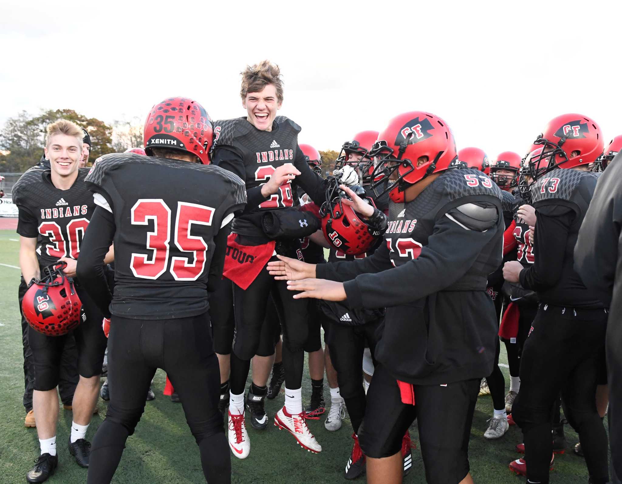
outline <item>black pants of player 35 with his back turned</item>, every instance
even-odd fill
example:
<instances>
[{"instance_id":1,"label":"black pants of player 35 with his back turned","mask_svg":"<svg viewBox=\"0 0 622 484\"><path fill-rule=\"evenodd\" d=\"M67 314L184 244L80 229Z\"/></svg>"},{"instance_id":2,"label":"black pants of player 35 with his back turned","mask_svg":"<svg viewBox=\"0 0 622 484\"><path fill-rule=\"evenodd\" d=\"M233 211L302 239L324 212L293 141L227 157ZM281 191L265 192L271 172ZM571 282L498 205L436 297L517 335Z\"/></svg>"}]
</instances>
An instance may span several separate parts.
<instances>
[{"instance_id":1,"label":"black pants of player 35 with his back turned","mask_svg":"<svg viewBox=\"0 0 622 484\"><path fill-rule=\"evenodd\" d=\"M231 482L231 457L218 411L220 370L207 313L146 321L112 317L108 340L110 403L91 447L88 484L109 483L128 436L145 408L145 395L162 368L182 400L205 479ZM181 451L181 450L180 450Z\"/></svg>"}]
</instances>

